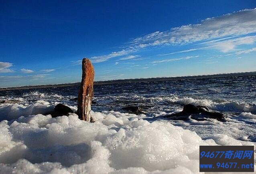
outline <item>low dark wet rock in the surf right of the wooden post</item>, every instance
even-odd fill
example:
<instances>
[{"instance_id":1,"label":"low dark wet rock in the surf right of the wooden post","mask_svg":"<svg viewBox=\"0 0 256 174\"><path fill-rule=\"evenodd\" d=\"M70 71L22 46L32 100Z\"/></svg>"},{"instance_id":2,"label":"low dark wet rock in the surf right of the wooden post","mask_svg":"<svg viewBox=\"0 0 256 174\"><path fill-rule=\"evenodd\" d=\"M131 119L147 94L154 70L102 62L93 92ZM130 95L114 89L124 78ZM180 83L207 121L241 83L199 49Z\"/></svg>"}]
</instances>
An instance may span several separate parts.
<instances>
[{"instance_id":1,"label":"low dark wet rock in the surf right of the wooden post","mask_svg":"<svg viewBox=\"0 0 256 174\"><path fill-rule=\"evenodd\" d=\"M195 106L192 104L187 104L183 107L183 111L175 114L165 115L165 118L171 118L175 120L185 120L186 118L192 115L192 119L196 120L205 120L206 119L217 119L219 121L225 120L225 115L220 112L211 111L205 106ZM195 116L197 115L197 116Z\"/></svg>"}]
</instances>

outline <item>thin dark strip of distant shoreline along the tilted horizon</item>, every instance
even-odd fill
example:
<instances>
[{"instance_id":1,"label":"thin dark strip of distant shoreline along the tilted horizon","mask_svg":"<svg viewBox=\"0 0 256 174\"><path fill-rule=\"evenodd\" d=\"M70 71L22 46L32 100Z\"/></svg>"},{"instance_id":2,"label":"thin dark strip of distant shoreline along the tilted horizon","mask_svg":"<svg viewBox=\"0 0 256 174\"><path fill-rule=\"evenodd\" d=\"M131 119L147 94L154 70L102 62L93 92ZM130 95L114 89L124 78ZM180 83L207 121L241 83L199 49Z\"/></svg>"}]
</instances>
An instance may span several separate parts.
<instances>
[{"instance_id":1,"label":"thin dark strip of distant shoreline along the tilted horizon","mask_svg":"<svg viewBox=\"0 0 256 174\"><path fill-rule=\"evenodd\" d=\"M193 76L180 76L180 77L152 77L152 78L140 78L140 79L117 79L108 81L94 81L94 85L114 84L114 83L136 83L136 82L147 82L147 81L169 81L172 79L202 79L202 78L214 78L214 77L232 77L232 76L245 76L245 75L256 75L254 72L243 72L243 73L225 73L225 74L212 74L212 75L193 75ZM80 82L76 83L63 83L63 84L52 84L52 85L31 85L31 86L20 86L20 87L3 87L0 91L14 90L14 89L40 89L49 87L68 87L78 86Z\"/></svg>"}]
</instances>

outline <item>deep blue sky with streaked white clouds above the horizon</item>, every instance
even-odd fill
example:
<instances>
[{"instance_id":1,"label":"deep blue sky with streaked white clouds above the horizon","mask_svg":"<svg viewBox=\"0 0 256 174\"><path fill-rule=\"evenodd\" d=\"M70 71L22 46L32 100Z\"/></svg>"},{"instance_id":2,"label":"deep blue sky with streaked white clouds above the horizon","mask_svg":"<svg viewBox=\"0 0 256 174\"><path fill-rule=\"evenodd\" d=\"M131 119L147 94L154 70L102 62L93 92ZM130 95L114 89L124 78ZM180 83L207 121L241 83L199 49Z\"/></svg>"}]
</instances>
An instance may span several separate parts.
<instances>
[{"instance_id":1,"label":"deep blue sky with streaked white clouds above the horizon","mask_svg":"<svg viewBox=\"0 0 256 174\"><path fill-rule=\"evenodd\" d=\"M256 1L1 1L0 87L256 71Z\"/></svg>"}]
</instances>

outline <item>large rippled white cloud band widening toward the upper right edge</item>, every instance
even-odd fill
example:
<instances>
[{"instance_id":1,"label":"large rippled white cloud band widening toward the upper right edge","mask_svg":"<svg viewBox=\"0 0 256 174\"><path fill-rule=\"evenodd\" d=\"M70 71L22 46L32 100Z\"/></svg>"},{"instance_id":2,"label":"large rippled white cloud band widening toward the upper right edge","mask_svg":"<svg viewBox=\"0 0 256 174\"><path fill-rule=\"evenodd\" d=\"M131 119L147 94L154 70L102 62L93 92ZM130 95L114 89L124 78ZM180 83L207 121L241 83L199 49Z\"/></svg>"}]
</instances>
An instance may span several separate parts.
<instances>
[{"instance_id":1,"label":"large rippled white cloud band widening toward the upper right edge","mask_svg":"<svg viewBox=\"0 0 256 174\"><path fill-rule=\"evenodd\" d=\"M256 32L256 9L242 10L215 18L202 20L200 24L171 28L134 39L131 44L186 44L228 36L240 36Z\"/></svg>"}]
</instances>

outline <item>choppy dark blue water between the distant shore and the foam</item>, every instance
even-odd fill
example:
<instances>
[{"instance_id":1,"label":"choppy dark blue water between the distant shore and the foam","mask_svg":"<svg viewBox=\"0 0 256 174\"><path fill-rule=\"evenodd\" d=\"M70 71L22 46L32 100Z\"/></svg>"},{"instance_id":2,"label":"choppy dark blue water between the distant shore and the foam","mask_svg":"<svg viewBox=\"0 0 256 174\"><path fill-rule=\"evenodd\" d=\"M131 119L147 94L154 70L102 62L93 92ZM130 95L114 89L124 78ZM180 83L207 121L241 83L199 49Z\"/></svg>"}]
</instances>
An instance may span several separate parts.
<instances>
[{"instance_id":1,"label":"choppy dark blue water between the distant shore and the foam","mask_svg":"<svg viewBox=\"0 0 256 174\"><path fill-rule=\"evenodd\" d=\"M79 86L0 91L0 99L21 98L22 103L38 100L76 106ZM256 113L256 76L173 79L136 83L94 85L93 111L122 111L125 106L144 106L147 115L177 111L187 103L239 115Z\"/></svg>"}]
</instances>

